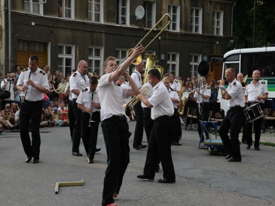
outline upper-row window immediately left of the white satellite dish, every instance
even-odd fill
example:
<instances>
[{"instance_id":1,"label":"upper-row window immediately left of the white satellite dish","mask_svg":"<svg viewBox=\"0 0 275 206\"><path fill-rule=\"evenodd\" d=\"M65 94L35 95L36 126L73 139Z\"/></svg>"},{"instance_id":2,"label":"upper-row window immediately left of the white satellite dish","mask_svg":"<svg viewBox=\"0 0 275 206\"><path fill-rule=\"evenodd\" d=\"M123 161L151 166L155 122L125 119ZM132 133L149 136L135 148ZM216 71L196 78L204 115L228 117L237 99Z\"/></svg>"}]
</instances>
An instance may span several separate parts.
<instances>
[{"instance_id":1,"label":"upper-row window immediately left of the white satellite dish","mask_svg":"<svg viewBox=\"0 0 275 206\"><path fill-rule=\"evenodd\" d=\"M116 0L116 23L129 25L129 0Z\"/></svg>"}]
</instances>

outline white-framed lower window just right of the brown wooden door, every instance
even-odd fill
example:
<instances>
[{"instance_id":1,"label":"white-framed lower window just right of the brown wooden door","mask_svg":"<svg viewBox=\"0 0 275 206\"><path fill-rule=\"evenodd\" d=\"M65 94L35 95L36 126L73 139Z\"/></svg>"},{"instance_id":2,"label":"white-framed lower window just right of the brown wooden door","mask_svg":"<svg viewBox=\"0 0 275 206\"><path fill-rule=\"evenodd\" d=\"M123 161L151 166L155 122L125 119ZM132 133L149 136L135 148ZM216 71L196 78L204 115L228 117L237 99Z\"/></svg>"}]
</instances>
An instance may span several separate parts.
<instances>
[{"instance_id":1,"label":"white-framed lower window just right of the brown wooden door","mask_svg":"<svg viewBox=\"0 0 275 206\"><path fill-rule=\"evenodd\" d=\"M70 74L74 69L74 45L58 45L58 70L62 71L64 76Z\"/></svg>"}]
</instances>

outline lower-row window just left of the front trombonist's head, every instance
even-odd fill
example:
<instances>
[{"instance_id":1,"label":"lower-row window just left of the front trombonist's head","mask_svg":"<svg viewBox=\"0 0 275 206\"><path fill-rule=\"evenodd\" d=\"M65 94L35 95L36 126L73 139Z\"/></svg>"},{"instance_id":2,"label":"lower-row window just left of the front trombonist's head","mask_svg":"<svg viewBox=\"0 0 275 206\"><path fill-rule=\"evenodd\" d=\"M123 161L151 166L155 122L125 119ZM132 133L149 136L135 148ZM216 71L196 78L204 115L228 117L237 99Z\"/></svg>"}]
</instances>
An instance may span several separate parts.
<instances>
[{"instance_id":1,"label":"lower-row window just left of the front trombonist's head","mask_svg":"<svg viewBox=\"0 0 275 206\"><path fill-rule=\"evenodd\" d=\"M89 47L89 56L88 56L88 71L96 71L98 75L102 75L101 65L103 64L103 49L97 46Z\"/></svg>"}]
</instances>

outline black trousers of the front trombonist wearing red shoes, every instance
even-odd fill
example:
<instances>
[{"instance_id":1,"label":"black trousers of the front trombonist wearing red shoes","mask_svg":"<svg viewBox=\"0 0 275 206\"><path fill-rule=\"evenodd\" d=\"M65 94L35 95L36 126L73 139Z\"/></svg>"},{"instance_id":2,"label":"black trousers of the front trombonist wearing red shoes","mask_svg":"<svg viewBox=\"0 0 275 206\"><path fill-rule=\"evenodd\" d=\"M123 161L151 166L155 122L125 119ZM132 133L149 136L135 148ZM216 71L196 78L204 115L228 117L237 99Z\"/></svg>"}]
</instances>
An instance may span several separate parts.
<instances>
[{"instance_id":1,"label":"black trousers of the front trombonist wearing red shoes","mask_svg":"<svg viewBox=\"0 0 275 206\"><path fill-rule=\"evenodd\" d=\"M126 118L112 116L101 123L107 152L107 168L105 171L102 205L113 203L113 192L119 193L123 175L130 161L129 126Z\"/></svg>"}]
</instances>

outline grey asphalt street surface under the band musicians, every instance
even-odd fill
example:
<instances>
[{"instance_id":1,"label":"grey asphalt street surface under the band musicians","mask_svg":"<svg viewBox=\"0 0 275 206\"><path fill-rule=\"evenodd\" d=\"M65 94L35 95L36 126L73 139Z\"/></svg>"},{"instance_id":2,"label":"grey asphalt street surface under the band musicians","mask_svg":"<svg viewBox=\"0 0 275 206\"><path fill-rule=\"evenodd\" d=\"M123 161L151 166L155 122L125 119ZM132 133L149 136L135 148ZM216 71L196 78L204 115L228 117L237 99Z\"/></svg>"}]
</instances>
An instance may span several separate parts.
<instances>
[{"instance_id":1,"label":"grey asphalt street surface under the band musicians","mask_svg":"<svg viewBox=\"0 0 275 206\"><path fill-rule=\"evenodd\" d=\"M134 132L135 122L129 122ZM88 164L83 156L71 154L68 127L40 129L40 162L25 163L26 158L18 132L0 134L0 206L101 205L106 150L101 129L97 147L101 151ZM212 135L213 138L213 135ZM241 138L241 136L240 136ZM262 134L261 140L274 141L274 133ZM145 133L143 140L145 140ZM182 127L181 146L172 146L176 182L158 183L162 170L154 181L140 180L145 149L132 148L120 193L115 202L129 205L275 205L275 147L260 145L260 150L245 149L240 144L242 161L228 162L220 153L210 155L198 149L196 130ZM146 142L144 142L146 144ZM80 181L83 186L62 186L54 193L56 182Z\"/></svg>"}]
</instances>

